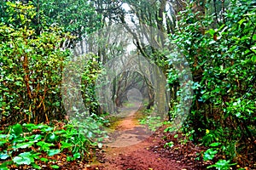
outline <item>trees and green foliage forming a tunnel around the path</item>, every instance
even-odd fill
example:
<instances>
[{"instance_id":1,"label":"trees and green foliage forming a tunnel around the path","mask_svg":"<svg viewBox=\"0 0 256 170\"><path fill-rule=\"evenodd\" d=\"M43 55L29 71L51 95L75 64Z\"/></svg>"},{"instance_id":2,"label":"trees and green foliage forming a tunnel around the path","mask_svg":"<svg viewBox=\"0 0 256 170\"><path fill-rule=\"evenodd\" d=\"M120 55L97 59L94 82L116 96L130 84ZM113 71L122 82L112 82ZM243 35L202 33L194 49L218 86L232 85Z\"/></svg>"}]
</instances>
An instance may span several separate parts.
<instances>
[{"instance_id":1,"label":"trees and green foliage forming a tunnel around the path","mask_svg":"<svg viewBox=\"0 0 256 170\"><path fill-rule=\"evenodd\" d=\"M24 164L38 167L34 161L39 159L37 153L54 156L71 147L72 142L81 144L79 149L69 150L70 159L86 159L90 156L88 148L95 144L90 139L95 133L104 136L99 129L108 124L106 115L118 112L129 101L127 96L133 88L141 93L133 91L137 101L142 100L142 109L159 108L166 114L166 121L175 120L179 102L186 96L179 80L184 65L177 70L173 66L174 61L180 62L177 54L165 51L173 48L172 44L189 65L193 88L193 99L188 97L189 115L179 131L193 143L208 147L202 154L205 161L218 153L224 158L215 165L225 162L225 166L232 167L229 162L235 162L255 168L255 23L253 0L1 1L0 169ZM120 65L113 59L124 56L125 40L130 38L122 32L113 37L113 31L106 31L117 24L134 40L134 53L145 59L138 65L154 63L158 69L149 65L141 70L120 71L112 79L101 78L106 78L106 67ZM143 26L153 27L160 34L145 31L147 27ZM97 37L93 39L90 35L95 32ZM141 37L157 47L145 44ZM86 65L81 71L79 93L90 116L85 128L90 130L77 139L80 135L73 130L76 127L67 123L70 117L61 90L64 68L81 55ZM78 69L77 65L70 66L70 71ZM162 78L166 80L164 85L160 83ZM67 81L73 80L67 77ZM105 106L97 99L99 84L110 90ZM76 102L72 100L69 102ZM74 108L72 111L77 113ZM56 128L61 132L58 135L54 133ZM31 139L25 138L28 133L33 135ZM52 149L59 139L62 148Z\"/></svg>"}]
</instances>

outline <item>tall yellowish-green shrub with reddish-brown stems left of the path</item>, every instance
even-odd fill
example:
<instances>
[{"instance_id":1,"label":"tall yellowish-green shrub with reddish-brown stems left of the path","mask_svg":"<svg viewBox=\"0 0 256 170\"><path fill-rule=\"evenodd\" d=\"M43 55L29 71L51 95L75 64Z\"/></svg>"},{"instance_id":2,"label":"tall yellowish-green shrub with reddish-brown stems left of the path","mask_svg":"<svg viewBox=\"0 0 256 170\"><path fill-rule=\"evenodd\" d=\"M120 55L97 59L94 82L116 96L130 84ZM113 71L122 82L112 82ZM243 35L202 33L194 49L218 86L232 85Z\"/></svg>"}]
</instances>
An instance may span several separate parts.
<instances>
[{"instance_id":1,"label":"tall yellowish-green shrub with reddish-brown stems left of the path","mask_svg":"<svg viewBox=\"0 0 256 170\"><path fill-rule=\"evenodd\" d=\"M9 122L44 122L61 117L61 71L68 51L63 31L45 28L38 36L30 23L31 5L7 3L9 26L0 23L0 116Z\"/></svg>"}]
</instances>

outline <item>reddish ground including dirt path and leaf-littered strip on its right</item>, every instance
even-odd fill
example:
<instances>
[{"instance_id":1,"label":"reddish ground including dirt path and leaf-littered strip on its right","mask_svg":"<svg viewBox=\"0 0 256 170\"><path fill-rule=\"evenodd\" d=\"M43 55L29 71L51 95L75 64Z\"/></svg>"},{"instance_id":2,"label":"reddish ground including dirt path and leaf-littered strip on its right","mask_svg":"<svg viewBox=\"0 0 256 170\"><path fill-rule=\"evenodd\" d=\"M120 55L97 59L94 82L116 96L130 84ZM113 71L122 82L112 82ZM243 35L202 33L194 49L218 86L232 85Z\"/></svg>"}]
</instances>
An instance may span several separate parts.
<instances>
[{"instance_id":1,"label":"reddish ground including dirt path and leaf-littered strip on its right","mask_svg":"<svg viewBox=\"0 0 256 170\"><path fill-rule=\"evenodd\" d=\"M109 139L114 139L109 142L103 150L97 154L99 163L87 166L85 169L99 170L188 170L188 169L206 169L205 166L198 166L194 163L196 153L200 152L193 144L181 147L178 145L175 150L168 150L164 145L167 140L173 138L171 133L163 133L165 127L160 127L151 136L144 135L143 141L138 143L137 129L140 129L136 121L136 111L131 111L131 114L126 116L119 125L115 127L115 132ZM117 135L118 134L118 135ZM125 141L130 144L127 145ZM127 146L126 146L127 145ZM175 147L174 147L175 148ZM169 148L171 149L171 148ZM188 156L188 150L189 156ZM184 151L186 150L186 151ZM200 161L197 162L201 164ZM202 164L203 165L203 164Z\"/></svg>"}]
</instances>

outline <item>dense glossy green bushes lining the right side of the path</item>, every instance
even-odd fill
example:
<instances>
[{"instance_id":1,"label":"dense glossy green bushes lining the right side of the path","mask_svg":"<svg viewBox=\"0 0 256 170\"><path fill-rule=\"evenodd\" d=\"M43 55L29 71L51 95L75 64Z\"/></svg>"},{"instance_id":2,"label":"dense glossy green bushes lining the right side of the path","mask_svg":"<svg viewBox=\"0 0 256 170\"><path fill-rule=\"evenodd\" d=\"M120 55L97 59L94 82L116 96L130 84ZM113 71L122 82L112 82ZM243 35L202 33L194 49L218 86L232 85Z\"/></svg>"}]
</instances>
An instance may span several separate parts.
<instances>
[{"instance_id":1,"label":"dense glossy green bushes lining the right side of the path","mask_svg":"<svg viewBox=\"0 0 256 170\"><path fill-rule=\"evenodd\" d=\"M195 142L206 146L220 143L218 149L211 148L205 153L205 160L213 158L214 150L232 161L253 160L256 9L251 3L231 1L219 26L213 25L212 15L199 19L190 6L181 13L178 29L170 35L171 42L189 61L194 78L194 101L183 129L195 131ZM172 55L168 57L175 59ZM178 86L178 74L169 70L171 86ZM174 98L172 103L177 101ZM176 116L177 110L177 105L172 108L172 116ZM226 161L218 163L230 165Z\"/></svg>"}]
</instances>

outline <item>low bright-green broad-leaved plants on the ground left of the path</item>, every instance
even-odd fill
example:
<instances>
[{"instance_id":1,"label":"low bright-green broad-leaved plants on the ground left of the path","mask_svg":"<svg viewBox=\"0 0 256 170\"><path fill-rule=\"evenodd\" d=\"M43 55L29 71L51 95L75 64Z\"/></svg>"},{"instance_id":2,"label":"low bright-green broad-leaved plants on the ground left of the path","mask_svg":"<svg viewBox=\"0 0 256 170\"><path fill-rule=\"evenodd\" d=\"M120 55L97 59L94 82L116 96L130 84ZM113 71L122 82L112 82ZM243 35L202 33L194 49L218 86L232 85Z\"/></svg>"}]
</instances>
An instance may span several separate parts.
<instances>
[{"instance_id":1,"label":"low bright-green broad-leaved plants on the ground left of the path","mask_svg":"<svg viewBox=\"0 0 256 170\"><path fill-rule=\"evenodd\" d=\"M90 155L90 147L96 145L73 125L57 124L15 124L0 133L1 168L9 165L38 167L38 161L45 164L55 155L65 152L68 161L84 159ZM50 165L55 166L55 165Z\"/></svg>"}]
</instances>

